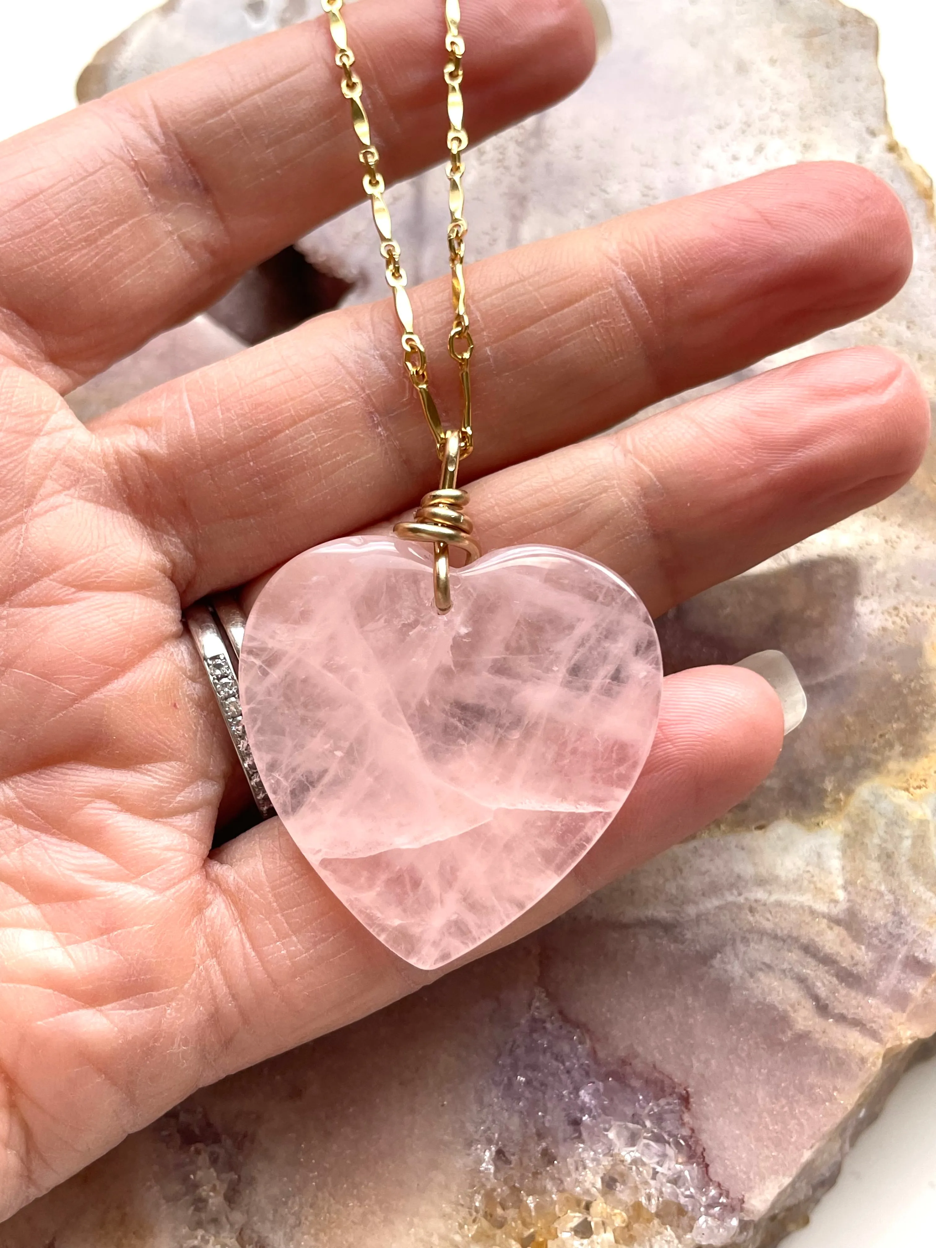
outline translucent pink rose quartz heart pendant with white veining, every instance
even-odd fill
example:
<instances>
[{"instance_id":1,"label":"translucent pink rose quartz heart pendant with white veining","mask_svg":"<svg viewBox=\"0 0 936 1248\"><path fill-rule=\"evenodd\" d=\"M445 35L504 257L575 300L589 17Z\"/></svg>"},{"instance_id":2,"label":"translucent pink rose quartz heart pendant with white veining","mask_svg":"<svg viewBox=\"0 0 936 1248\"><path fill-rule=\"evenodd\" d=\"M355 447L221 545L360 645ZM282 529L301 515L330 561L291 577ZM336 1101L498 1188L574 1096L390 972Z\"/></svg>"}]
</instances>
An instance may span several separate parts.
<instances>
[{"instance_id":1,"label":"translucent pink rose quartz heart pendant with white veining","mask_svg":"<svg viewBox=\"0 0 936 1248\"><path fill-rule=\"evenodd\" d=\"M650 617L602 564L495 550L432 605L431 554L354 537L270 580L240 665L277 814L341 901L433 968L529 910L620 810L650 749Z\"/></svg>"}]
</instances>

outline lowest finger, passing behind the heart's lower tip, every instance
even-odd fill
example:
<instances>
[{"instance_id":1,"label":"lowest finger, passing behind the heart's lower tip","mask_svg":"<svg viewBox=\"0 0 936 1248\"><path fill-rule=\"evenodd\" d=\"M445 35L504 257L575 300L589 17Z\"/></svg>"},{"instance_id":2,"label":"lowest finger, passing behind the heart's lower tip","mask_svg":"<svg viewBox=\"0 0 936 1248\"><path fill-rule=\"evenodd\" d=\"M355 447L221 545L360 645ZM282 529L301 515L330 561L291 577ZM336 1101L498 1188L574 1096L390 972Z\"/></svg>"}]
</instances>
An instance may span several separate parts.
<instances>
[{"instance_id":1,"label":"lowest finger, passing behind the heart's lower tip","mask_svg":"<svg viewBox=\"0 0 936 1248\"><path fill-rule=\"evenodd\" d=\"M779 700L754 673L701 668L668 678L653 750L618 819L573 879L484 951L724 814L770 771L781 740ZM203 1080L343 1026L436 977L362 927L278 820L223 846L207 871L211 952L207 982L200 982L213 1008Z\"/></svg>"}]
</instances>

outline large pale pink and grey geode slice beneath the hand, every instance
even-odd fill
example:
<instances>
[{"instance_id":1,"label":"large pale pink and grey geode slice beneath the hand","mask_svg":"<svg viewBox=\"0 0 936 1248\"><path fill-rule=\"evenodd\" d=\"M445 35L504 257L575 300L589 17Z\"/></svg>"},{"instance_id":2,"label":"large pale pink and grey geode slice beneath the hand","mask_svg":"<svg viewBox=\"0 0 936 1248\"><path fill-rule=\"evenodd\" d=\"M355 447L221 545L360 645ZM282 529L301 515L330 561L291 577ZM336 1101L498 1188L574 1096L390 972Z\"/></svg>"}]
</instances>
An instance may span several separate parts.
<instances>
[{"instance_id":1,"label":"large pale pink and grey geode slice beneath the hand","mask_svg":"<svg viewBox=\"0 0 936 1248\"><path fill-rule=\"evenodd\" d=\"M168 6L99 74L155 65L170 31L176 59L206 29L221 41L235 7ZM804 349L887 343L936 387L932 206L887 127L874 26L834 0L610 7L590 82L474 151L473 255L794 160L860 161L904 198L916 272ZM393 193L411 273L442 272L441 173ZM383 295L366 212L305 245L356 298ZM776 646L807 686L775 774L721 826L205 1090L7 1222L2 1248L775 1243L936 1031L935 535L931 454L894 499L661 623L670 666Z\"/></svg>"}]
</instances>

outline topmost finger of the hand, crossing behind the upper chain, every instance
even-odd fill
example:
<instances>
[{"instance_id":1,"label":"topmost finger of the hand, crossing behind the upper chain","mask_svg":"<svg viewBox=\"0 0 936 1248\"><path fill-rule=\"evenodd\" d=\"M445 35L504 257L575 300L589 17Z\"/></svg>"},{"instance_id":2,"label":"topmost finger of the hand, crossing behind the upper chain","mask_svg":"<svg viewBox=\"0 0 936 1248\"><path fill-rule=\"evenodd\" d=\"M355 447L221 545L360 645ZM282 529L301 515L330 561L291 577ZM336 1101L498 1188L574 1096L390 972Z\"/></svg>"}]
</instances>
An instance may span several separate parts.
<instances>
[{"instance_id":1,"label":"topmost finger of the hand, crossing behind the upper chain","mask_svg":"<svg viewBox=\"0 0 936 1248\"><path fill-rule=\"evenodd\" d=\"M474 0L462 25L472 140L552 104L594 61L582 0ZM439 160L442 6L363 0L348 30L384 176ZM363 198L333 54L319 17L0 146L0 351L71 388Z\"/></svg>"}]
</instances>

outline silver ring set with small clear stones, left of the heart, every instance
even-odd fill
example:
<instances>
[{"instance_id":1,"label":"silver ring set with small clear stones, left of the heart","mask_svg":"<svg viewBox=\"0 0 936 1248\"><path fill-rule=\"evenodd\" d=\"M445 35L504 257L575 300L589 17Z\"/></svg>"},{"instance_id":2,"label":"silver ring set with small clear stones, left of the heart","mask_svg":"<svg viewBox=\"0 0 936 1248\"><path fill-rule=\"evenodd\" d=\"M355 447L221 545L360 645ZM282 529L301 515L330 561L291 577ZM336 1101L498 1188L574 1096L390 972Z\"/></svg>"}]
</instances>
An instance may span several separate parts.
<instances>
[{"instance_id":1,"label":"silver ring set with small clear stones, left of the heart","mask_svg":"<svg viewBox=\"0 0 936 1248\"><path fill-rule=\"evenodd\" d=\"M232 594L216 594L213 598L193 603L182 613L182 618L192 634L198 658L205 664L257 810L263 819L272 819L276 810L253 761L243 726L241 691L237 684L237 663L241 658L247 617Z\"/></svg>"}]
</instances>

